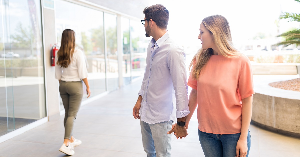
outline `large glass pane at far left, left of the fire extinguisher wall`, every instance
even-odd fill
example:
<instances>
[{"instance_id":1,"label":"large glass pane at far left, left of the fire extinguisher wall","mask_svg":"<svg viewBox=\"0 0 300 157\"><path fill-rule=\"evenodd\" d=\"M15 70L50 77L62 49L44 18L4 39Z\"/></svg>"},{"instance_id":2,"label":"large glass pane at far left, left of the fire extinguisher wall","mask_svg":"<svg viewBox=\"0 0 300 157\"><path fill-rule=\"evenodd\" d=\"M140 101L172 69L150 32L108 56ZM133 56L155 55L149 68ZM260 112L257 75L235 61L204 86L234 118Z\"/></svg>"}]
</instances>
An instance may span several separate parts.
<instances>
[{"instance_id":1,"label":"large glass pane at far left, left of the fire extinguisher wall","mask_svg":"<svg viewBox=\"0 0 300 157\"><path fill-rule=\"evenodd\" d=\"M0 136L46 117L40 1L1 2Z\"/></svg>"}]
</instances>

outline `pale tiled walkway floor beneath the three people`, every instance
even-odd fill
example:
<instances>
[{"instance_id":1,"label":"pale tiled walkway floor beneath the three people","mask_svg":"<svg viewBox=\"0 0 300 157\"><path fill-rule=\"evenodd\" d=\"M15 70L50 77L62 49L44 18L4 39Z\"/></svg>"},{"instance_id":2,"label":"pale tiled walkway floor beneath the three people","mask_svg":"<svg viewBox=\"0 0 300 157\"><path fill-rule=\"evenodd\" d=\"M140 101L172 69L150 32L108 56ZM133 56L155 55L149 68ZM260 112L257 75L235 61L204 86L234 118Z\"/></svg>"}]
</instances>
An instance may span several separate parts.
<instances>
[{"instance_id":1,"label":"pale tiled walkway floor beneath the three people","mask_svg":"<svg viewBox=\"0 0 300 157\"><path fill-rule=\"evenodd\" d=\"M132 116L141 80L82 106L76 119L74 136L82 140L75 147L79 157L145 157L140 123ZM64 116L0 144L1 157L56 157L64 138ZM189 135L172 143L173 157L204 157L198 139L196 114ZM299 157L300 138L280 135L250 126L250 157Z\"/></svg>"}]
</instances>

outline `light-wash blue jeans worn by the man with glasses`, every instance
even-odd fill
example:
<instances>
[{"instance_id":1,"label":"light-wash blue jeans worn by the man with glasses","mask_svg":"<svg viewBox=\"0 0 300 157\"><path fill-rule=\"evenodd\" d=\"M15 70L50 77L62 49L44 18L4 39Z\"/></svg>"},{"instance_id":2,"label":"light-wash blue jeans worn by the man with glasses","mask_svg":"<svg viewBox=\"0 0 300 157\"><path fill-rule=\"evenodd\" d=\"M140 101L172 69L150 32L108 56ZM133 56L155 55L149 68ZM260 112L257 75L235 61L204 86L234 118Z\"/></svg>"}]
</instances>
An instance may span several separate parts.
<instances>
[{"instance_id":1,"label":"light-wash blue jeans worn by the man with glasses","mask_svg":"<svg viewBox=\"0 0 300 157\"><path fill-rule=\"evenodd\" d=\"M140 121L144 150L148 157L171 157L172 134L167 134L172 129L173 121L148 124Z\"/></svg>"}]
</instances>

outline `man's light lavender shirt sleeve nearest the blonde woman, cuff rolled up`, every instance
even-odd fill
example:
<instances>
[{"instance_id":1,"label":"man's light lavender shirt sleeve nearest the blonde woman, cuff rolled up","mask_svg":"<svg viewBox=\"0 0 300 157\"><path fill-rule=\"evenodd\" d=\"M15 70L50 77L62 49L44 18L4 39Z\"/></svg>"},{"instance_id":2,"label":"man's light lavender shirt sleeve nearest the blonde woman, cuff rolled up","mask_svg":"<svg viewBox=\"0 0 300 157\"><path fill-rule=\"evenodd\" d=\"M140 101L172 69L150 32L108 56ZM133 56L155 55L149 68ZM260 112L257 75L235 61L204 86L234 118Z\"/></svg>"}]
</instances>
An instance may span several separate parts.
<instances>
[{"instance_id":1,"label":"man's light lavender shirt sleeve nearest the blonde woman, cuff rolled up","mask_svg":"<svg viewBox=\"0 0 300 157\"><path fill-rule=\"evenodd\" d=\"M190 113L188 109L188 87L184 50L177 46L172 48L169 52L167 62L176 95L176 118L182 118Z\"/></svg>"}]
</instances>

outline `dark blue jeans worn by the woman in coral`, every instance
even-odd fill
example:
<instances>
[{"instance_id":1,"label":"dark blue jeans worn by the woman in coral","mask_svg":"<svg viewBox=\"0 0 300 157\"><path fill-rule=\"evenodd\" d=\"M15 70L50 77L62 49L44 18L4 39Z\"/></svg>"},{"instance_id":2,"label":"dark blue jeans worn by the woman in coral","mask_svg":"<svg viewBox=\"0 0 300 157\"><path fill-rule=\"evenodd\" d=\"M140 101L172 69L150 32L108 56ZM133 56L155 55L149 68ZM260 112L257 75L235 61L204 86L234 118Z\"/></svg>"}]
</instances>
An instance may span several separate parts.
<instances>
[{"instance_id":1,"label":"dark blue jeans worn by the woman in coral","mask_svg":"<svg viewBox=\"0 0 300 157\"><path fill-rule=\"evenodd\" d=\"M199 130L199 129L198 129ZM199 140L207 157L235 157L236 156L236 144L240 138L241 133L237 134L212 134L202 132L199 130ZM249 155L251 146L251 135L248 131L247 137L248 152Z\"/></svg>"}]
</instances>

